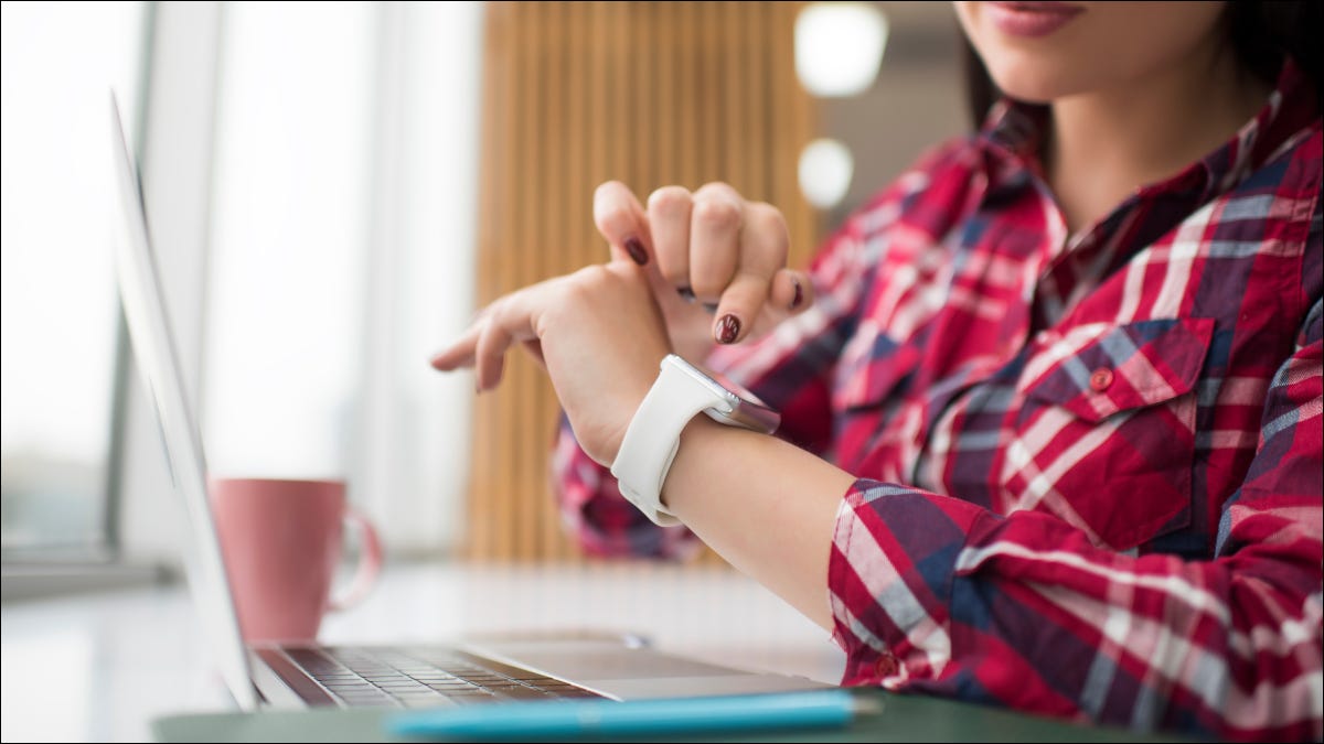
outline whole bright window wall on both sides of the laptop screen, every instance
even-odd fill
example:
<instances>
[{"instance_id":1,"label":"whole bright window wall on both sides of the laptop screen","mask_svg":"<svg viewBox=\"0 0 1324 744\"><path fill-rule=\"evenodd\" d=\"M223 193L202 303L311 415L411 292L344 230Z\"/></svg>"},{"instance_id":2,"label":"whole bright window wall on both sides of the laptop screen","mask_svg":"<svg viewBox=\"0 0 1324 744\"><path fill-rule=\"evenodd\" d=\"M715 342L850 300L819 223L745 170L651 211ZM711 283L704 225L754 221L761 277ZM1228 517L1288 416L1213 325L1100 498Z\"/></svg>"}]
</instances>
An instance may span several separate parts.
<instances>
[{"instance_id":1,"label":"whole bright window wall on both sides of the laptop screen","mask_svg":"<svg viewBox=\"0 0 1324 744\"><path fill-rule=\"evenodd\" d=\"M473 312L482 4L3 8L5 557L185 534L132 369L115 396L111 86L212 470L347 477L395 555L444 553L473 389L426 361Z\"/></svg>"}]
</instances>

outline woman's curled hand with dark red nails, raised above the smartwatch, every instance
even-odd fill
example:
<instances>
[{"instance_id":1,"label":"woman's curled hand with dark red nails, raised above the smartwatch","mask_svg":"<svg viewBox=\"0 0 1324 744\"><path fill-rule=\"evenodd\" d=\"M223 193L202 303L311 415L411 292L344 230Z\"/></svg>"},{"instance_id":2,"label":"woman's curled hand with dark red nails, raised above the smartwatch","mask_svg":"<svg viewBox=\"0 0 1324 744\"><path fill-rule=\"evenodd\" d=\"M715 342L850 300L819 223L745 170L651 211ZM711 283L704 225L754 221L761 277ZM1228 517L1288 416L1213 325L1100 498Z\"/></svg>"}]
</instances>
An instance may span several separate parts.
<instances>
[{"instance_id":1,"label":"woman's curled hand with dark red nails, raised above the smartwatch","mask_svg":"<svg viewBox=\"0 0 1324 744\"><path fill-rule=\"evenodd\" d=\"M663 187L645 210L625 184L608 181L593 195L593 221L614 257L655 261L649 287L671 346L691 361L714 343L761 336L813 302L809 277L786 269L781 212L727 184Z\"/></svg>"}]
</instances>

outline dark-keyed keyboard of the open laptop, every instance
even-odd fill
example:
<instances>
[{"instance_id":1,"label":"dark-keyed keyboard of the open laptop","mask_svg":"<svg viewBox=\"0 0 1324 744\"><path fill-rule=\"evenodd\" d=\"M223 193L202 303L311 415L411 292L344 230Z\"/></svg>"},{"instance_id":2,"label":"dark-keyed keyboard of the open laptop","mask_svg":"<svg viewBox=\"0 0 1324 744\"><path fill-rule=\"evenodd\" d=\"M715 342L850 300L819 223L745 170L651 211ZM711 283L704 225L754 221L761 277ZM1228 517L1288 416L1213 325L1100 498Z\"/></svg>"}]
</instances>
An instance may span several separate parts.
<instances>
[{"instance_id":1,"label":"dark-keyed keyboard of the open laptop","mask_svg":"<svg viewBox=\"0 0 1324 744\"><path fill-rule=\"evenodd\" d=\"M346 707L445 707L500 700L600 698L551 676L446 649L285 649Z\"/></svg>"}]
</instances>

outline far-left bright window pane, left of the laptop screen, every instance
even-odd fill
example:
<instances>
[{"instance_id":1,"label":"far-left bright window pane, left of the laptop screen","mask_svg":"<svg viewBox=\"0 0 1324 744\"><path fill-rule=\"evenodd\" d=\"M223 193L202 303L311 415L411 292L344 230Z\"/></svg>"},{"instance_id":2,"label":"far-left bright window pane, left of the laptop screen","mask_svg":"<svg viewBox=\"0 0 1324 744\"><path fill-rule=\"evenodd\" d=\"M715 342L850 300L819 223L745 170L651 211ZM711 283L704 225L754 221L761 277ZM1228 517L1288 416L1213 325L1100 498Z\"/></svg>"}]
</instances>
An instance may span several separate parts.
<instances>
[{"instance_id":1,"label":"far-left bright window pane, left of the laptop screen","mask_svg":"<svg viewBox=\"0 0 1324 744\"><path fill-rule=\"evenodd\" d=\"M7 559L114 548L110 90L136 131L143 3L5 3L0 502Z\"/></svg>"}]
</instances>

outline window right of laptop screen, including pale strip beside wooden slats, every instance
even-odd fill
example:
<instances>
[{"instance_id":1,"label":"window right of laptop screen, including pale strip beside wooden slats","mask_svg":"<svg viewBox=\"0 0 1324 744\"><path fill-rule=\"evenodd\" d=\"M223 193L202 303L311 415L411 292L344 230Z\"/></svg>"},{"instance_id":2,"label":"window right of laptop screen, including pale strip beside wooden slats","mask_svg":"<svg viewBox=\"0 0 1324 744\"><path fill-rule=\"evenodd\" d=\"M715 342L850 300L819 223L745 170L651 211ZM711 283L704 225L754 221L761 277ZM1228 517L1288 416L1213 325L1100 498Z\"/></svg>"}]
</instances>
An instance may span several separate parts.
<instances>
[{"instance_id":1,"label":"window right of laptop screen, including pale strip beside wooden slats","mask_svg":"<svg viewBox=\"0 0 1324 744\"><path fill-rule=\"evenodd\" d=\"M346 478L396 555L467 477L475 3L225 7L203 420L212 470Z\"/></svg>"}]
</instances>

